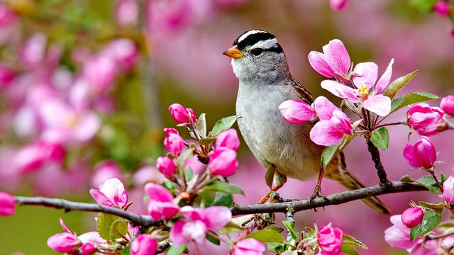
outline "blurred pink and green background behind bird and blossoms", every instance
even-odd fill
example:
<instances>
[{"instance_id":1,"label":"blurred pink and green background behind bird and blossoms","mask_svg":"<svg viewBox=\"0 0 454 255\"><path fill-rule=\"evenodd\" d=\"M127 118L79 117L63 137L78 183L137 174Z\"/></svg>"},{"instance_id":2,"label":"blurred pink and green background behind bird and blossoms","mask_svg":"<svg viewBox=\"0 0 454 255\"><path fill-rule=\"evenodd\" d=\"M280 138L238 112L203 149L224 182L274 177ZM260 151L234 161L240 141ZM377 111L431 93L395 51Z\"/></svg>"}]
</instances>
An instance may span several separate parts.
<instances>
[{"instance_id":1,"label":"blurred pink and green background behind bird and blossoms","mask_svg":"<svg viewBox=\"0 0 454 255\"><path fill-rule=\"evenodd\" d=\"M126 186L131 208L143 212L142 187L162 181L155 159L164 154L167 107L181 103L209 126L235 113L238 80L221 54L245 30L277 36L293 76L314 96L327 96L307 55L329 40L342 40L354 63L376 62L384 72L394 58L392 79L419 69L405 91L454 94L454 38L448 18L422 13L407 1L351 0L343 11L328 0L3 0L0 1L0 190L94 202L89 188L111 176ZM438 106L439 101L431 102ZM405 109L389 120L405 118ZM266 123L264 123L266 125ZM187 133L180 130L182 135ZM389 178L415 179L402 157L407 128L389 128L382 152ZM452 132L431 137L445 175L453 167ZM411 135L411 142L419 140ZM367 186L378 182L365 140L345 149L350 171ZM255 203L266 192L265 169L243 144L240 168L230 178L245 191L236 203ZM192 162L196 168L196 162ZM284 198L307 198L315 181L290 180ZM323 193L344 189L325 180ZM411 199L437 202L424 193L381 196L393 214ZM446 215L445 215L446 216ZM0 254L56 254L46 245L62 232L95 229L92 213L19 207L0 218ZM447 217L446 217L447 218ZM279 224L283 215L277 215ZM389 216L359 201L295 215L297 229L333 222L369 246L360 254L405 254L384 242ZM203 254L226 254L206 245Z\"/></svg>"}]
</instances>

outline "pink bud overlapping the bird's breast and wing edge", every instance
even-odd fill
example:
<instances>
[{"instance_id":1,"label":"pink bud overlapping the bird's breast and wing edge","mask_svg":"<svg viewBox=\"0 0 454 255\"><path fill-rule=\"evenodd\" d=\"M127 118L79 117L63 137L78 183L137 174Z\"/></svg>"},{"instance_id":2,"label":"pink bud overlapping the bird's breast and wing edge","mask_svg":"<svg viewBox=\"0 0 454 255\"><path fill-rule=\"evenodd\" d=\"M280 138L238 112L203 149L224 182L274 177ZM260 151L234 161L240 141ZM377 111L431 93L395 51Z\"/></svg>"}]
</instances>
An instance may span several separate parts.
<instances>
[{"instance_id":1,"label":"pink bud overlapping the bird's breast and wing edge","mask_svg":"<svg viewBox=\"0 0 454 255\"><path fill-rule=\"evenodd\" d=\"M279 105L282 117L290 124L301 125L306 121L314 120L316 113L308 103L292 99Z\"/></svg>"}]
</instances>

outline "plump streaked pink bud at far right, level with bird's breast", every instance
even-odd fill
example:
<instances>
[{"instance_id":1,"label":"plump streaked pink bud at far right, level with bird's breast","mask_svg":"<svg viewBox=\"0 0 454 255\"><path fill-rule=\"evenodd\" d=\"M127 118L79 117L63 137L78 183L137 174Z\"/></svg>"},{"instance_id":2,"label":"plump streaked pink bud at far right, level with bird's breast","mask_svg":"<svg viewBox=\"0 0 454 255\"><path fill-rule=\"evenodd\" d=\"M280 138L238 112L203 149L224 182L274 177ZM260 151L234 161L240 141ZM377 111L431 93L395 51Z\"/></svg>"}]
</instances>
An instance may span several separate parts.
<instances>
[{"instance_id":1,"label":"plump streaked pink bud at far right, level with bird's breast","mask_svg":"<svg viewBox=\"0 0 454 255\"><path fill-rule=\"evenodd\" d=\"M416 103L406 113L406 122L419 135L434 135L443 125L444 112L438 107L431 107L427 103Z\"/></svg>"}]
</instances>

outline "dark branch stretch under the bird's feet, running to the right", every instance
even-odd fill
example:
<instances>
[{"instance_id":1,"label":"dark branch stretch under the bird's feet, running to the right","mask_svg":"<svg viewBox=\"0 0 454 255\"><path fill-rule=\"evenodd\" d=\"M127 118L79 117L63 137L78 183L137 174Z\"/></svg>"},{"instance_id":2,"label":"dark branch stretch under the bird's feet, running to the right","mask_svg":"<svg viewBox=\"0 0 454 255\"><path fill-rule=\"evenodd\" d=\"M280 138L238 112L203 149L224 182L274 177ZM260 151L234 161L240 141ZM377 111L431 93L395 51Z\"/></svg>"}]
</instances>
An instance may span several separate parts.
<instances>
[{"instance_id":1,"label":"dark branch stretch under the bird's feet, running to the right","mask_svg":"<svg viewBox=\"0 0 454 255\"><path fill-rule=\"evenodd\" d=\"M327 205L339 205L353 200L362 198L369 198L372 196L379 196L388 193L399 193L405 191L427 191L427 188L417 183L403 183L400 181L390 181L389 186L372 186L367 188L360 188L353 191L345 191L336 193L326 198L314 198L313 200L296 200L284 203L270 203L265 205L235 205L231 208L232 215L247 215L253 213L265 212L287 212L289 208L293 212L301 210L308 210L314 208L321 208Z\"/></svg>"}]
</instances>

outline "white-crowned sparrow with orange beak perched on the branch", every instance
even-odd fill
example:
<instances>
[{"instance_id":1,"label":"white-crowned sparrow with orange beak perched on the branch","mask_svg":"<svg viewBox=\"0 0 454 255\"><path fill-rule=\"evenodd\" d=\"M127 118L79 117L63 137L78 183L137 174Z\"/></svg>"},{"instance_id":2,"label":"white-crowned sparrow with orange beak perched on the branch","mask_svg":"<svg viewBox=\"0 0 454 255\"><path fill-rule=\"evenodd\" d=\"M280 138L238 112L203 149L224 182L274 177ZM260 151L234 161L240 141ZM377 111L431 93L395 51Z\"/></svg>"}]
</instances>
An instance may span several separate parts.
<instances>
[{"instance_id":1,"label":"white-crowned sparrow with orange beak perched on the branch","mask_svg":"<svg viewBox=\"0 0 454 255\"><path fill-rule=\"evenodd\" d=\"M239 80L236 114L242 118L238 119L238 128L250 151L267 169L265 179L271 191L282 187L287 176L300 181L319 176L311 198L324 196L322 176L338 181L349 190L365 187L347 170L343 152L321 169L325 147L316 145L309 137L314 123L292 125L282 118L280 103L299 99L310 105L314 96L290 74L287 57L275 35L264 30L248 30L223 54L231 57L233 73ZM263 202L262 199L260 203ZM376 197L364 198L362 202L389 215L387 206Z\"/></svg>"}]
</instances>

